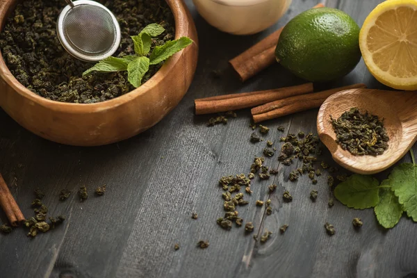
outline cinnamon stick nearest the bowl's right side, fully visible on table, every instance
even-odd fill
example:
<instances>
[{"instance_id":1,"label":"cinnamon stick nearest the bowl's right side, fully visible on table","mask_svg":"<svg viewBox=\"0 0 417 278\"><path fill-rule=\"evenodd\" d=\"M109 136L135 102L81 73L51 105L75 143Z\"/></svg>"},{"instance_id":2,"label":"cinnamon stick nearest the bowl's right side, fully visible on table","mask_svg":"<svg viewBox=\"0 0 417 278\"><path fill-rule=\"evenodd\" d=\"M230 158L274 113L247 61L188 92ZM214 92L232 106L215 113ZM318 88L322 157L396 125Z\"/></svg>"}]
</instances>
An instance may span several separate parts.
<instances>
[{"instance_id":1,"label":"cinnamon stick nearest the bowl's right side, fully visible on table","mask_svg":"<svg viewBox=\"0 0 417 278\"><path fill-rule=\"evenodd\" d=\"M202 115L250 108L277 99L304 95L308 92L313 92L313 83L274 90L243 92L240 94L208 97L206 99L195 99L195 114Z\"/></svg>"}]
</instances>

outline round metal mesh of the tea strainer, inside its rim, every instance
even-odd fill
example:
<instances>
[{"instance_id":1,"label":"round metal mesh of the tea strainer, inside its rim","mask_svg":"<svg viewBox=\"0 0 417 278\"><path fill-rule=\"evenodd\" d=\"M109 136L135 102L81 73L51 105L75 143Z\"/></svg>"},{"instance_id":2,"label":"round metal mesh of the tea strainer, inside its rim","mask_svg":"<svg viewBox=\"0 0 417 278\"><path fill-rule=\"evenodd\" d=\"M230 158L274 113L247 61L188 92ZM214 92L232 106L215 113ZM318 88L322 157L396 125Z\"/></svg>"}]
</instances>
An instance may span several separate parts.
<instances>
[{"instance_id":1,"label":"round metal mesh of the tea strainer, inside its rim","mask_svg":"<svg viewBox=\"0 0 417 278\"><path fill-rule=\"evenodd\" d=\"M88 56L105 54L116 40L113 17L99 6L70 9L63 19L63 31L72 47Z\"/></svg>"}]
</instances>

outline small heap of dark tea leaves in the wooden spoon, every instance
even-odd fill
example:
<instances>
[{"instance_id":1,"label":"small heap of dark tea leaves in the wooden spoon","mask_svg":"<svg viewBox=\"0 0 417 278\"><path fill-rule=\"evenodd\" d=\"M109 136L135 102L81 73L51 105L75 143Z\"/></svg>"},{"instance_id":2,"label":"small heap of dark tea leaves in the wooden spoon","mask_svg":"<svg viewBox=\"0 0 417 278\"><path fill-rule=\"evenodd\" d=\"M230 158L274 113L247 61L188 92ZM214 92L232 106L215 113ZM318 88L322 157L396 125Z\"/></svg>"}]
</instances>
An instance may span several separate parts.
<instances>
[{"instance_id":1,"label":"small heap of dark tea leaves in the wooden spoon","mask_svg":"<svg viewBox=\"0 0 417 278\"><path fill-rule=\"evenodd\" d=\"M331 120L336 142L351 154L377 156L388 149L389 136L378 116L350 108L337 120L331 116Z\"/></svg>"}]
</instances>

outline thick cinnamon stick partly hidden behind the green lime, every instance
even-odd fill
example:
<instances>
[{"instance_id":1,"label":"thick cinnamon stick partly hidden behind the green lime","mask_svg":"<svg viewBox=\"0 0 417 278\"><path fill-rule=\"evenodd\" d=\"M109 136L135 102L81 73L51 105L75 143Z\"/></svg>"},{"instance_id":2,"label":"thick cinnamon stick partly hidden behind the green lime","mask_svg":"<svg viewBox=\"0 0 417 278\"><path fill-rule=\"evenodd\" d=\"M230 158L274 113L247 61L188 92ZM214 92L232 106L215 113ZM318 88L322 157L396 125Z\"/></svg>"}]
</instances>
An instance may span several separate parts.
<instances>
[{"instance_id":1,"label":"thick cinnamon stick partly hidden behind the green lime","mask_svg":"<svg viewBox=\"0 0 417 278\"><path fill-rule=\"evenodd\" d=\"M324 6L324 4L319 3L313 8L322 8ZM275 47L277 47L282 29L284 27L279 28L274 33L268 35L268 37L254 44L250 49L229 60L231 67L238 74L240 81L245 82L247 79L250 79L252 76L255 76L277 62L275 59Z\"/></svg>"}]
</instances>

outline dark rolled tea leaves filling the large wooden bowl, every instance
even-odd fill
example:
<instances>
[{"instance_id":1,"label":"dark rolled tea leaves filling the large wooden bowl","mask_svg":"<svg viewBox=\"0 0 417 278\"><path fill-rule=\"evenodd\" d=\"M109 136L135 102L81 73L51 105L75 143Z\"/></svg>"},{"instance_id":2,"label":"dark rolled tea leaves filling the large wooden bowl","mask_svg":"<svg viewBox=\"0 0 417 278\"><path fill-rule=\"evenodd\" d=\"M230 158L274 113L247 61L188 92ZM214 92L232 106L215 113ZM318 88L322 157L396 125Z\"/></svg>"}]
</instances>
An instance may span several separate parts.
<instances>
[{"instance_id":1,"label":"dark rolled tea leaves filling the large wooden bowl","mask_svg":"<svg viewBox=\"0 0 417 278\"><path fill-rule=\"evenodd\" d=\"M163 0L99 0L117 17L122 42L117 58L135 54L131 36L158 23L165 32L152 39L154 47L174 38L174 17ZM56 19L65 6L62 0L22 1L6 20L0 33L0 49L17 81L36 94L55 101L91 104L114 99L133 90L127 72L82 77L91 67L67 54L56 35ZM162 63L150 65L142 82L150 79Z\"/></svg>"}]
</instances>

